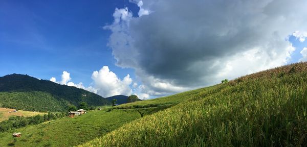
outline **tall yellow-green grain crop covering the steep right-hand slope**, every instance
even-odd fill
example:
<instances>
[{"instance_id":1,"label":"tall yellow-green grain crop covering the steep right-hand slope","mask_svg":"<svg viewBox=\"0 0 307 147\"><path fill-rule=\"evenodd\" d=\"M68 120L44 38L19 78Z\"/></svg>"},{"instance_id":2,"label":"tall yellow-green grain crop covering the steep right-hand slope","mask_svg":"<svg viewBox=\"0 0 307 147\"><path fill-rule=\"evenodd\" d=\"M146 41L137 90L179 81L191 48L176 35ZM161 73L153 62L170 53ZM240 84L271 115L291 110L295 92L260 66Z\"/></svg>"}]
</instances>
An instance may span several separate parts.
<instances>
[{"instance_id":1,"label":"tall yellow-green grain crop covering the steep right-hand slope","mask_svg":"<svg viewBox=\"0 0 307 147\"><path fill-rule=\"evenodd\" d=\"M199 89L182 95L187 101L80 146L305 145L306 81L307 63L299 63Z\"/></svg>"}]
</instances>

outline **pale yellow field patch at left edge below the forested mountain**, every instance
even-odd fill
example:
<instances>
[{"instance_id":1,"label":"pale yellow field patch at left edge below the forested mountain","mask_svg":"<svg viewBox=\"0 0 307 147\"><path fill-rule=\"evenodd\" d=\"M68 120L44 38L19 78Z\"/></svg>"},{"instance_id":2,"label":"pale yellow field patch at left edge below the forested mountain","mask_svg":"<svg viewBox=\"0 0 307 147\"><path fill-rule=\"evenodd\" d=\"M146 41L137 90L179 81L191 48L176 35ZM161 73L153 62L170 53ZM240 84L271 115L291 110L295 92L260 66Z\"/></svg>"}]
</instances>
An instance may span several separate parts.
<instances>
[{"instance_id":1,"label":"pale yellow field patch at left edge below the forested mountain","mask_svg":"<svg viewBox=\"0 0 307 147\"><path fill-rule=\"evenodd\" d=\"M0 108L0 122L3 121L3 120L9 119L9 117L11 117L11 116L28 117L28 116L46 114L46 113L41 113L41 112L31 112L31 111L22 111L22 110L19 110L19 111L14 112L14 113L8 113L9 111L13 112L14 110L15 109Z\"/></svg>"}]
</instances>

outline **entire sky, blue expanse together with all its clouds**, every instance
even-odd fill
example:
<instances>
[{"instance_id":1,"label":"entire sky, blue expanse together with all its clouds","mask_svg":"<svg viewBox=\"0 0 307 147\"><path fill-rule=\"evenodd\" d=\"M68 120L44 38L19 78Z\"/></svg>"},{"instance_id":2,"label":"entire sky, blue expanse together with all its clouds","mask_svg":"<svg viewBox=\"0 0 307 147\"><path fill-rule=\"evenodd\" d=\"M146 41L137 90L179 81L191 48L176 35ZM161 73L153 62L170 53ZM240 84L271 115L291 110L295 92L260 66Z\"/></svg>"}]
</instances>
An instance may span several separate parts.
<instances>
[{"instance_id":1,"label":"entire sky, blue expanse together with all its clouds","mask_svg":"<svg viewBox=\"0 0 307 147\"><path fill-rule=\"evenodd\" d=\"M306 1L221 2L0 1L0 76L150 99L307 60Z\"/></svg>"}]
</instances>

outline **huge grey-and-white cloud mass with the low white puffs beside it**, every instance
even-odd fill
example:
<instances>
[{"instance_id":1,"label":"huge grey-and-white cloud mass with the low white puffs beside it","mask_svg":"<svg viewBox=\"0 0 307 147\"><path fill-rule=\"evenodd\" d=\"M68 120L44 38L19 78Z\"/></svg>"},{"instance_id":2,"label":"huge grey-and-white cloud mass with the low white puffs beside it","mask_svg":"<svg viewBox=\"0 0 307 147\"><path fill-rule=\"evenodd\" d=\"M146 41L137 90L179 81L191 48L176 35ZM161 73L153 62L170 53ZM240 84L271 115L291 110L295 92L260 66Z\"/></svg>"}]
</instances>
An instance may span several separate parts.
<instances>
[{"instance_id":1,"label":"huge grey-and-white cloud mass with the low white puffs beside it","mask_svg":"<svg viewBox=\"0 0 307 147\"><path fill-rule=\"evenodd\" d=\"M92 75L101 95L137 93L147 99L284 65L295 51L289 37L307 37L303 0L131 3L139 6L139 17L116 8L114 22L104 29L111 31L108 46L117 66L135 69L141 84L131 86L129 75L120 80L104 66ZM306 61L307 49L300 54L299 61Z\"/></svg>"}]
</instances>

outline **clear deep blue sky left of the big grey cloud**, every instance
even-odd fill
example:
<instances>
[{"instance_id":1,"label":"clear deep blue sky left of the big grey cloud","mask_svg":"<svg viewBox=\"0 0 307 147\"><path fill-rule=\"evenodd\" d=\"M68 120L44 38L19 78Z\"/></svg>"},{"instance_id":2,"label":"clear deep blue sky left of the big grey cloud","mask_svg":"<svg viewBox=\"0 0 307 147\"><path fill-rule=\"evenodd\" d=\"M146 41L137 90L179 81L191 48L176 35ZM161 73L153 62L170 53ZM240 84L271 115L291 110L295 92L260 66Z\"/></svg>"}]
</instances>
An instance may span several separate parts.
<instances>
[{"instance_id":1,"label":"clear deep blue sky left of the big grey cloud","mask_svg":"<svg viewBox=\"0 0 307 147\"><path fill-rule=\"evenodd\" d=\"M132 69L115 66L107 47L115 8L138 7L128 1L1 1L0 76L28 74L40 79L68 71L74 82L91 83L91 74L109 66L120 78Z\"/></svg>"}]
</instances>

